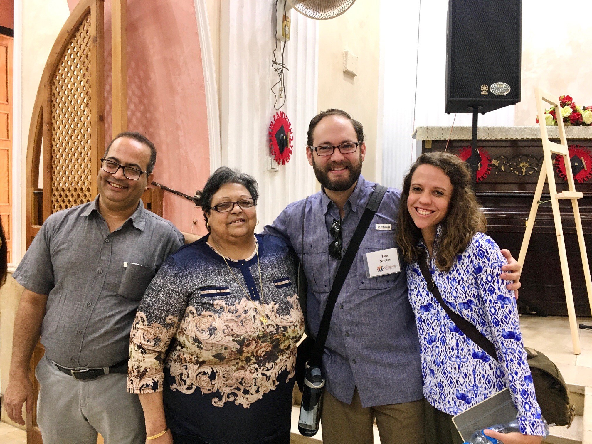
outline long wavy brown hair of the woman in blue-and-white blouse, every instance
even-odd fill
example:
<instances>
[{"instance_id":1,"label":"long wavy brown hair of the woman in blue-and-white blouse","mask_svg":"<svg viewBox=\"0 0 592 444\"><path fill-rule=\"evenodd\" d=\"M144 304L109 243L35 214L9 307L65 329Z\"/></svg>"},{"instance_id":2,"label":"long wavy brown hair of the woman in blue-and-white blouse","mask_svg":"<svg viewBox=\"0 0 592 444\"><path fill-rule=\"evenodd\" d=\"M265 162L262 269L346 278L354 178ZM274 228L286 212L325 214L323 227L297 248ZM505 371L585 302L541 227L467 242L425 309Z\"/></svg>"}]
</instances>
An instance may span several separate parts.
<instances>
[{"instance_id":1,"label":"long wavy brown hair of the woman in blue-and-white blouse","mask_svg":"<svg viewBox=\"0 0 592 444\"><path fill-rule=\"evenodd\" d=\"M451 153L422 154L405 176L399 206L397 244L407 262L416 260L420 253L417 242L422 238L422 232L416 227L407 210L411 178L420 165L432 165L441 169L452 184L452 196L448 204L448 213L441 222L442 233L438 237L435 258L437 268L448 271L455 262L456 255L465 250L475 233L485 231L487 220L472 191L471 170L466 162Z\"/></svg>"}]
</instances>

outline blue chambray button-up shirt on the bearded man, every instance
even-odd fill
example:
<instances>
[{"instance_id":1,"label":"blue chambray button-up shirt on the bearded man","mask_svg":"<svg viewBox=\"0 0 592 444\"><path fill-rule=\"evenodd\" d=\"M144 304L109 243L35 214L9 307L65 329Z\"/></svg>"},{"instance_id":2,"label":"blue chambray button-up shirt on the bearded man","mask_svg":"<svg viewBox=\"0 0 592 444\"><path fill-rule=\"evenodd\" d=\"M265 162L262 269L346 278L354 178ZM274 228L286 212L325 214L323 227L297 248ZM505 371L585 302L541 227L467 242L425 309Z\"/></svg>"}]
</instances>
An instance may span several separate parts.
<instances>
[{"instance_id":1,"label":"blue chambray button-up shirt on the bearded man","mask_svg":"<svg viewBox=\"0 0 592 444\"><path fill-rule=\"evenodd\" d=\"M366 203L377 184L358 180L345 204L342 219L343 247L347 248ZM400 192L389 188L366 232L345 284L337 298L325 345L323 367L327 390L350 404L358 387L362 407L406 403L423 398L417 327L407 298L403 272L366 278L363 256L393 248ZM304 251L303 210L306 202ZM307 321L316 336L339 260L329 256L329 228L339 210L320 191L306 200L289 204L266 234L281 236L304 260L308 279ZM377 230L390 224L391 230Z\"/></svg>"}]
</instances>

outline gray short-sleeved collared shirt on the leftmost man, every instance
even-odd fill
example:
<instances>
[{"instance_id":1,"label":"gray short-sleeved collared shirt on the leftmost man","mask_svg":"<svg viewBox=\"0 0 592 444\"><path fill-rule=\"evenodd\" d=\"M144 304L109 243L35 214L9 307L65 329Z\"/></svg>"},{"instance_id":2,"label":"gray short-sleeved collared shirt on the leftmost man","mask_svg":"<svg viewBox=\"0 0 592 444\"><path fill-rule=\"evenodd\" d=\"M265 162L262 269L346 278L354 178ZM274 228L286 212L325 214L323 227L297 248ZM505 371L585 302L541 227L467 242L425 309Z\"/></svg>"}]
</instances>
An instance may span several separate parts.
<instances>
[{"instance_id":1,"label":"gray short-sleeved collared shirt on the leftmost man","mask_svg":"<svg viewBox=\"0 0 592 444\"><path fill-rule=\"evenodd\" d=\"M41 325L47 357L71 368L127 359L140 299L183 242L172 223L141 201L112 233L98 197L50 215L13 275L28 290L49 295Z\"/></svg>"}]
</instances>

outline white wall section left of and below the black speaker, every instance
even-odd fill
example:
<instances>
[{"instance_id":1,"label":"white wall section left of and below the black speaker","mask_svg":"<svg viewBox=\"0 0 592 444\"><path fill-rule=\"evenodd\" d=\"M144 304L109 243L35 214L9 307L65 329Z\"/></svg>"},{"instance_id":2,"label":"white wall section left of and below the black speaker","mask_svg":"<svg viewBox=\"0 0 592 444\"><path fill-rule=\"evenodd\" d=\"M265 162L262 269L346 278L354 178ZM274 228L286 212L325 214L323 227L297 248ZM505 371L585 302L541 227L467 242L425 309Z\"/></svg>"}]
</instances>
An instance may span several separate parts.
<instances>
[{"instance_id":1,"label":"white wall section left of and below the black speaker","mask_svg":"<svg viewBox=\"0 0 592 444\"><path fill-rule=\"evenodd\" d=\"M445 0L381 0L384 185L400 187L416 158L416 144L411 139L414 128L452 125L454 114L444 112L447 11ZM455 126L471 124L471 114L456 116ZM479 115L480 126L513 124L511 106Z\"/></svg>"}]
</instances>

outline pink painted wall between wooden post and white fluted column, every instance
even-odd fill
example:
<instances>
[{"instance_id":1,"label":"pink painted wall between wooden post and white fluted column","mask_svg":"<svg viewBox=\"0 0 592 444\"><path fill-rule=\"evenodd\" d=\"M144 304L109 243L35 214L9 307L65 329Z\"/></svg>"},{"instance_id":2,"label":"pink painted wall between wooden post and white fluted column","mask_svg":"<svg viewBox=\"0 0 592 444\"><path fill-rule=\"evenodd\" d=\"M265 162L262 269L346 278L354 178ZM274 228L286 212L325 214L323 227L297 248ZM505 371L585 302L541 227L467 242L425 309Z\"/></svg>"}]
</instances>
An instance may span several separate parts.
<instances>
[{"instance_id":1,"label":"pink painted wall between wooden post and white fluted column","mask_svg":"<svg viewBox=\"0 0 592 444\"><path fill-rule=\"evenodd\" d=\"M70 11L78 0L67 0ZM210 175L204 73L194 0L127 0L128 129L157 149L155 181L185 194ZM105 0L105 139L111 137L111 0ZM201 210L165 192L164 217L205 233ZM192 220L198 220L194 226Z\"/></svg>"}]
</instances>

